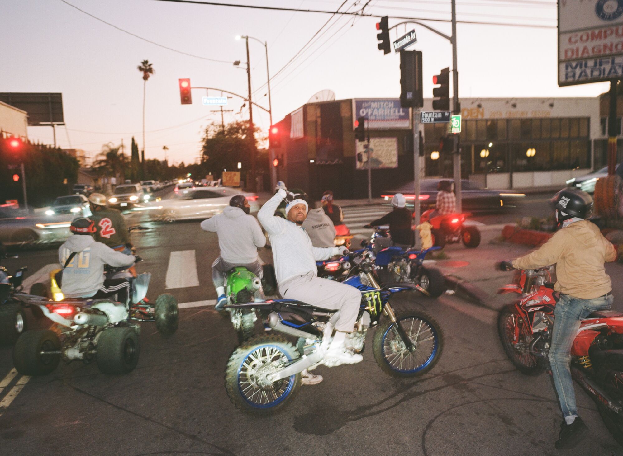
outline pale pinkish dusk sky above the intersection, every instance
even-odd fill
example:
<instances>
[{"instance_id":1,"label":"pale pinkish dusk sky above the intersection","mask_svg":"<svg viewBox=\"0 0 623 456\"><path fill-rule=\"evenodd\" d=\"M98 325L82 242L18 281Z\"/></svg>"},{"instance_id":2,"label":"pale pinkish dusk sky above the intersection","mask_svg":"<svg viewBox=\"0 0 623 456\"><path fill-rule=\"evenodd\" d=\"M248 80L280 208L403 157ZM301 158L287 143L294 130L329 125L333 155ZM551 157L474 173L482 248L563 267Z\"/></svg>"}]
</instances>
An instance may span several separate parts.
<instances>
[{"instance_id":1,"label":"pale pinkish dusk sky above the intersection","mask_svg":"<svg viewBox=\"0 0 623 456\"><path fill-rule=\"evenodd\" d=\"M343 0L231 0L235 4L335 11ZM146 40L213 62L163 49L80 12L109 22ZM340 11L360 11L419 18L450 19L450 1L347 0ZM553 0L457 0L463 21L549 26L549 28L459 24L459 94L462 97L594 97L607 83L559 88L556 83L556 2ZM201 105L205 90L193 90L193 105L181 105L178 78L193 86L223 88L246 95L247 75L232 65L245 62L249 35L269 44L274 75L330 19L328 14L261 11L236 7L180 4L153 0L4 0L0 6L3 63L0 92L62 92L66 128L57 142L95 156L104 143L121 138L129 153L131 136L141 148L143 80L141 60L153 63L147 82L146 158L193 162L202 131L221 121L216 107ZM273 121L331 89L338 99L397 98L399 56L377 49L378 19L335 16L316 39L272 80ZM400 22L389 19L392 26ZM450 24L427 22L445 34ZM424 97L431 97L432 75L452 67L449 42L421 26L400 26L398 35L415 28L422 50ZM396 31L390 32L392 40ZM250 40L254 101L268 107L264 46ZM210 95L220 95L211 92ZM226 121L245 120L240 98L229 100ZM267 113L254 108L254 120L267 131ZM29 138L52 143L52 129L30 127Z\"/></svg>"}]
</instances>

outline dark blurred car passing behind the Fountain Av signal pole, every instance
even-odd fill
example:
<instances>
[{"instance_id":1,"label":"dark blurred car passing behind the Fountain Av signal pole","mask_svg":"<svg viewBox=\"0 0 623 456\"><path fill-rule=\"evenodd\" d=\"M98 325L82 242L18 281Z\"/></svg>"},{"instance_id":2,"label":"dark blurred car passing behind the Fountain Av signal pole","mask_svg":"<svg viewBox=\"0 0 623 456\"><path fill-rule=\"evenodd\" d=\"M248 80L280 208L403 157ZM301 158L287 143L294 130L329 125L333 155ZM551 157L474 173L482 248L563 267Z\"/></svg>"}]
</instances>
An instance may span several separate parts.
<instances>
[{"instance_id":1,"label":"dark blurred car passing behind the Fountain Av signal pole","mask_svg":"<svg viewBox=\"0 0 623 456\"><path fill-rule=\"evenodd\" d=\"M437 183L439 181L451 181L452 179L422 179L420 181L420 206L427 209L437 203ZM389 201L396 193L402 193L407 199L407 204L414 199L414 184L404 184L401 188L384 192L381 197ZM480 187L477 183L467 180L461 181L461 196L463 211L497 211L516 207L526 196L521 192L512 190L492 190Z\"/></svg>"}]
</instances>

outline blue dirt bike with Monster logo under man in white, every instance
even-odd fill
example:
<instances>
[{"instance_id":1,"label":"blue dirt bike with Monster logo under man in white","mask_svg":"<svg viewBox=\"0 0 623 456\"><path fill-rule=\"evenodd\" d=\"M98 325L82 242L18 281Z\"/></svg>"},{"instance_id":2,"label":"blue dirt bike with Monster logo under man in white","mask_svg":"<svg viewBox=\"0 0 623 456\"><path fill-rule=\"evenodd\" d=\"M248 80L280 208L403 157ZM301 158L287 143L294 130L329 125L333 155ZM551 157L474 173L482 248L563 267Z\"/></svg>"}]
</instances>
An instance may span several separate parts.
<instances>
[{"instance_id":1,"label":"blue dirt bike with Monster logo under man in white","mask_svg":"<svg viewBox=\"0 0 623 456\"><path fill-rule=\"evenodd\" d=\"M345 346L362 353L366 331L375 328L372 351L381 370L396 377L421 376L439 361L444 348L442 331L421 311L394 312L391 297L415 286L381 287L373 256L364 250L350 257L354 273L344 283L361 290L361 307ZM297 394L302 371L333 365L324 356L335 327L335 311L291 299L227 307L257 309L275 333L298 338L295 346L283 336L257 335L234 350L227 361L225 387L240 411L254 415L280 411Z\"/></svg>"}]
</instances>

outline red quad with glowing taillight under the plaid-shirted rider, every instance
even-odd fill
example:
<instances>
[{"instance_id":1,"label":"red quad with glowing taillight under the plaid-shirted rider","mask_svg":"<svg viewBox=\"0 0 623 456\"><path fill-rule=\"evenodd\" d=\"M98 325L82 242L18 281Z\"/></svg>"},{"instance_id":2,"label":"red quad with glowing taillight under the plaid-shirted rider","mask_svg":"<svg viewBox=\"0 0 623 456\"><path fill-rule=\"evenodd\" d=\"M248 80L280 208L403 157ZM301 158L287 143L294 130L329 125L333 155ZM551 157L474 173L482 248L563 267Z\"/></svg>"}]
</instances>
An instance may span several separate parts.
<instances>
[{"instance_id":1,"label":"red quad with glowing taillight under the plaid-shirted rider","mask_svg":"<svg viewBox=\"0 0 623 456\"><path fill-rule=\"evenodd\" d=\"M429 222L432 225L430 234L433 245L445 247L445 244L463 242L468 249L475 249L480 245L480 230L473 226L465 226L465 219L472 214L448 214L430 218L434 209L424 211L420 217L420 223Z\"/></svg>"}]
</instances>

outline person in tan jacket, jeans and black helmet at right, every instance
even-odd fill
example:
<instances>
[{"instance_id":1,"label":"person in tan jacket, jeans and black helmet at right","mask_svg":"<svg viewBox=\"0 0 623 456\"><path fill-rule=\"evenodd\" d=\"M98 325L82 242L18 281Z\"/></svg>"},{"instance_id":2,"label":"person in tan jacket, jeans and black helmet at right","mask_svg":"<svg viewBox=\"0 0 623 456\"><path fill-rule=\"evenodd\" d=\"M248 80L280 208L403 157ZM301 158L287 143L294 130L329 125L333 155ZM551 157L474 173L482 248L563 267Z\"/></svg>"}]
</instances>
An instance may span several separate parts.
<instances>
[{"instance_id":1,"label":"person in tan jacket, jeans and black helmet at right","mask_svg":"<svg viewBox=\"0 0 623 456\"><path fill-rule=\"evenodd\" d=\"M612 305L612 283L604 262L616 260L614 246L588 219L591 216L592 197L579 189L566 188L551 199L556 208L556 222L562 229L540 249L513 262L502 262L503 269L536 269L556 264L558 282L554 290L560 292L554 315L554 328L549 349L549 363L558 401L563 412L556 449L576 446L588 429L578 416L573 380L569 370L571 343L580 327L580 321L594 311Z\"/></svg>"}]
</instances>

